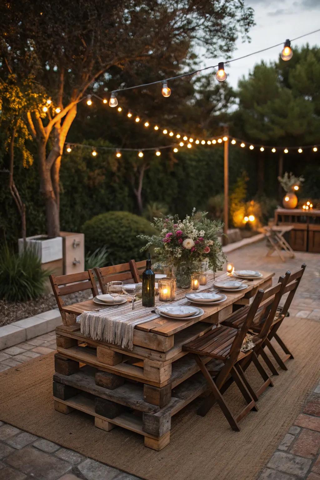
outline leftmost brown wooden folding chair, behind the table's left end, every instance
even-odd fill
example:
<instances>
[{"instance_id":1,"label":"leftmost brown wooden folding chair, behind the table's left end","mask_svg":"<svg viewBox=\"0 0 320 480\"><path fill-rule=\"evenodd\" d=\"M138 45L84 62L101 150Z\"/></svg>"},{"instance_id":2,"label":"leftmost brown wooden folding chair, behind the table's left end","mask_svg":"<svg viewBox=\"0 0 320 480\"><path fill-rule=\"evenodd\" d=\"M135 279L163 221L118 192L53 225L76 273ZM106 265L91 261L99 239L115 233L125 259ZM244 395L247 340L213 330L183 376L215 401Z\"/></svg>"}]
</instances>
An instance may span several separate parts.
<instances>
[{"instance_id":1,"label":"leftmost brown wooden folding chair, behind the table's left end","mask_svg":"<svg viewBox=\"0 0 320 480\"><path fill-rule=\"evenodd\" d=\"M50 275L49 279L63 320L65 320L67 313L65 312L66 305L61 297L69 295L70 293L89 289L91 290L93 297L99 293L95 283L95 276L92 271L60 276Z\"/></svg>"}]
</instances>

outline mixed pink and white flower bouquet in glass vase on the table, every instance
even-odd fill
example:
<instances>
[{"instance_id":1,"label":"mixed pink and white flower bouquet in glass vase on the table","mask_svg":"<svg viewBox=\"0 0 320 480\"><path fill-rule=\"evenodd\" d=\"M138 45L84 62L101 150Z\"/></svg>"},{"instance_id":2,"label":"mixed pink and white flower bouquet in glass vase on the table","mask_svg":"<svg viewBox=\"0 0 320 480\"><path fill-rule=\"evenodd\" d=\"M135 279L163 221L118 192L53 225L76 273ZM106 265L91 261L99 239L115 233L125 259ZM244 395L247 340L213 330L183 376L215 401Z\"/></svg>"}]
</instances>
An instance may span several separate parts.
<instances>
[{"instance_id":1,"label":"mixed pink and white flower bouquet in glass vase on the table","mask_svg":"<svg viewBox=\"0 0 320 480\"><path fill-rule=\"evenodd\" d=\"M178 216L154 218L151 224L160 233L158 235L139 235L142 240L147 240L146 250L154 246L154 253L159 265L170 265L175 270L177 286L190 287L190 275L202 270L201 265L206 264L206 269L222 269L226 258L222 252L222 245L218 239L218 232L222 228L220 222L206 218L207 212L187 215L184 220Z\"/></svg>"}]
</instances>

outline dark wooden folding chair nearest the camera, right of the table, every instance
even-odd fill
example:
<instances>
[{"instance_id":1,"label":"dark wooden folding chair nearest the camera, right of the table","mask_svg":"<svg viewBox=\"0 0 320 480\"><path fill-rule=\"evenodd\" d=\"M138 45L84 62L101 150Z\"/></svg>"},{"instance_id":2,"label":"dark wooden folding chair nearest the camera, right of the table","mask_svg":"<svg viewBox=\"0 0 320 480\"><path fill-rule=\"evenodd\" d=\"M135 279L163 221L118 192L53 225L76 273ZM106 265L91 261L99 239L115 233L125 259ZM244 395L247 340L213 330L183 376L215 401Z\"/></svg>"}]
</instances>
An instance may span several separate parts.
<instances>
[{"instance_id":1,"label":"dark wooden folding chair nearest the camera, right of the table","mask_svg":"<svg viewBox=\"0 0 320 480\"><path fill-rule=\"evenodd\" d=\"M252 350L241 352L241 347L263 298L263 293L263 290L257 292L240 329L237 330L227 326L218 326L182 347L183 350L194 354L195 360L212 390L212 393L205 400L198 413L204 416L214 402L217 401L225 418L228 420L231 428L235 431L240 430L238 425L239 420L244 418L250 410L257 410L256 401L252 396L253 390L249 386L249 382L245 378L243 371L238 368L238 362L245 357L252 355ZM254 336L253 338L254 342L261 341L258 336ZM222 360L223 366L220 372L212 377L207 366L202 361L203 357L212 357L216 360ZM233 381L237 384L242 396L247 402L246 407L241 410L237 417L233 415L222 395ZM224 385L226 386L225 388L223 388Z\"/></svg>"}]
</instances>

